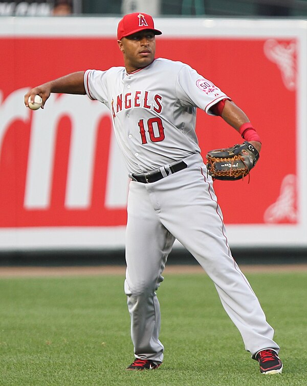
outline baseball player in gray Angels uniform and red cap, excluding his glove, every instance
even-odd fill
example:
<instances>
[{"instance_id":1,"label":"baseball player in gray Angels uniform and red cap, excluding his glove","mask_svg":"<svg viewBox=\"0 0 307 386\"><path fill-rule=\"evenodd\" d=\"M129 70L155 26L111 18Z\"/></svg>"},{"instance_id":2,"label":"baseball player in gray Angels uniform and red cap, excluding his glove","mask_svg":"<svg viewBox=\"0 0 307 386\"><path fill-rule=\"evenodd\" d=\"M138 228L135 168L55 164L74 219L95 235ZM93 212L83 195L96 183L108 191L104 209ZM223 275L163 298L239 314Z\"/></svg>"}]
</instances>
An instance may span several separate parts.
<instances>
[{"instance_id":1,"label":"baseball player in gray Angels uniform and red cap, excluding his glove","mask_svg":"<svg viewBox=\"0 0 307 386\"><path fill-rule=\"evenodd\" d=\"M163 361L156 290L177 238L213 280L260 372L281 373L274 331L229 249L195 134L196 108L221 116L258 151L260 138L246 114L210 80L187 64L155 58L155 38L161 33L150 15L125 15L117 29L124 67L52 80L30 90L25 105L36 94L43 100L42 108L50 93L87 94L111 111L131 178L125 294L135 360L128 369L157 369Z\"/></svg>"}]
</instances>

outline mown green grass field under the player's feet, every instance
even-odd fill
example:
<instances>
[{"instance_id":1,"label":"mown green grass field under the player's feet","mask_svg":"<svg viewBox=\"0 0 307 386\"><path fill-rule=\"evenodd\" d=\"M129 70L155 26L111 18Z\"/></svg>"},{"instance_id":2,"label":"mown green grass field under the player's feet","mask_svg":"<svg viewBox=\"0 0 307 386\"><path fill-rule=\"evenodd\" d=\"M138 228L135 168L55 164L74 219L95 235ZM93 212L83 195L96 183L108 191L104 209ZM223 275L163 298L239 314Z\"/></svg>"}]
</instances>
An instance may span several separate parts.
<instances>
[{"instance_id":1,"label":"mown green grass field under the player's feet","mask_svg":"<svg viewBox=\"0 0 307 386\"><path fill-rule=\"evenodd\" d=\"M281 346L261 375L205 274L165 274L158 290L163 365L134 359L123 276L0 279L0 385L306 385L307 273L248 274Z\"/></svg>"}]
</instances>

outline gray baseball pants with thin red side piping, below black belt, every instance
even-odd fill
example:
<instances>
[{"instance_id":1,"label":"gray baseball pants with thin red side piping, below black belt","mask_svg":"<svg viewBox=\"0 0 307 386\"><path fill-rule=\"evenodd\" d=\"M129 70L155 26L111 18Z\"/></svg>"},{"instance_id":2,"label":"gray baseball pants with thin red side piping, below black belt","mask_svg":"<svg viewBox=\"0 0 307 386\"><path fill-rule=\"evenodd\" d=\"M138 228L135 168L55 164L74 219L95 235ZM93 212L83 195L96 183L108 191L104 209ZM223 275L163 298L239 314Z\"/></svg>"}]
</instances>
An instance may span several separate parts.
<instances>
[{"instance_id":1,"label":"gray baseball pants with thin red side piping, below black belt","mask_svg":"<svg viewBox=\"0 0 307 386\"><path fill-rule=\"evenodd\" d=\"M131 181L126 229L126 280L131 339L137 358L163 360L156 290L177 238L213 280L223 307L245 349L255 355L279 347L247 278L229 249L222 212L202 157L184 159L188 168L157 182Z\"/></svg>"}]
</instances>

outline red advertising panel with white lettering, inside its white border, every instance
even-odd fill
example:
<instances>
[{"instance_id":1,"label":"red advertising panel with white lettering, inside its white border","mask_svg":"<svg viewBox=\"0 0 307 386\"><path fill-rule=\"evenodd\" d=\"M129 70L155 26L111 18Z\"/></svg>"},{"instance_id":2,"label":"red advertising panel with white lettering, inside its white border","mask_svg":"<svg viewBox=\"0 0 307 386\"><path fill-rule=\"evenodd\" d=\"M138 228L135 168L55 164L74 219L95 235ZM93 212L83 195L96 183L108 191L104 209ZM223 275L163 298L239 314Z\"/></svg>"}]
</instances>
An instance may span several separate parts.
<instances>
[{"instance_id":1,"label":"red advertising panel with white lettering, inside its white border","mask_svg":"<svg viewBox=\"0 0 307 386\"><path fill-rule=\"evenodd\" d=\"M53 36L56 26L49 24L44 36L34 26L30 35L0 33L5 53L0 72L0 231L124 227L128 177L109 111L87 96L53 94L45 109L37 111L23 103L29 88L53 78L122 66L116 38L98 30L91 36L85 30L84 35L70 30ZM302 120L298 101L300 87L305 87L298 84L299 57L305 52L300 32L174 35L157 37L156 56L188 63L212 80L248 114L262 140L250 178L214 182L226 225L235 231L260 227L264 234L268 229L276 234L278 226L301 227L298 190L304 182L298 180L296 154ZM242 141L221 118L203 111L196 130L203 157L212 148Z\"/></svg>"}]
</instances>

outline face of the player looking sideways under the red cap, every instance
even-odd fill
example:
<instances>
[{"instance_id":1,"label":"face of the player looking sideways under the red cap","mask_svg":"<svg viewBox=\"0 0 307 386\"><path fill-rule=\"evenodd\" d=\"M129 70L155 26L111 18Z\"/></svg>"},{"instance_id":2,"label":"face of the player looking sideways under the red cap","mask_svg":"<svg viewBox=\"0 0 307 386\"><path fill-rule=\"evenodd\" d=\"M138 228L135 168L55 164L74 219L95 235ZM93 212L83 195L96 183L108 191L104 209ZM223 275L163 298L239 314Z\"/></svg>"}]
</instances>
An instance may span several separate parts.
<instances>
[{"instance_id":1,"label":"face of the player looking sideways under the red cap","mask_svg":"<svg viewBox=\"0 0 307 386\"><path fill-rule=\"evenodd\" d=\"M156 38L151 30L143 30L117 40L124 55L127 72L148 66L155 58Z\"/></svg>"}]
</instances>

